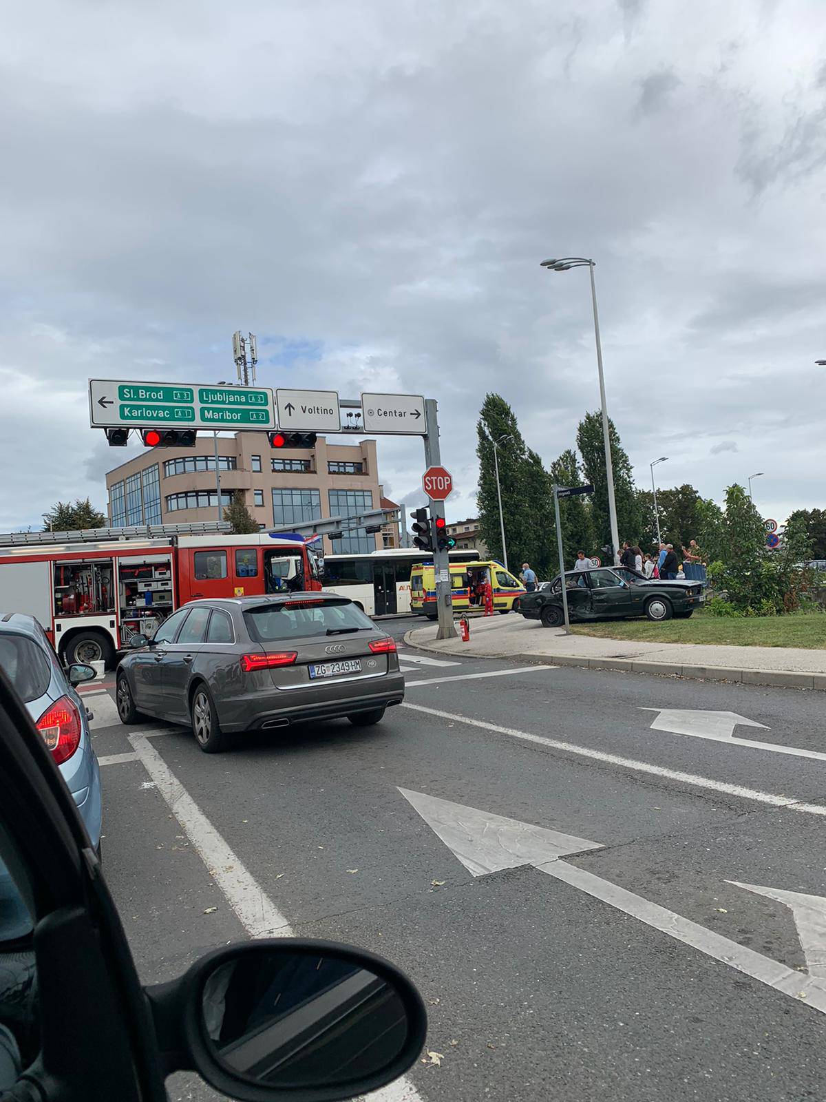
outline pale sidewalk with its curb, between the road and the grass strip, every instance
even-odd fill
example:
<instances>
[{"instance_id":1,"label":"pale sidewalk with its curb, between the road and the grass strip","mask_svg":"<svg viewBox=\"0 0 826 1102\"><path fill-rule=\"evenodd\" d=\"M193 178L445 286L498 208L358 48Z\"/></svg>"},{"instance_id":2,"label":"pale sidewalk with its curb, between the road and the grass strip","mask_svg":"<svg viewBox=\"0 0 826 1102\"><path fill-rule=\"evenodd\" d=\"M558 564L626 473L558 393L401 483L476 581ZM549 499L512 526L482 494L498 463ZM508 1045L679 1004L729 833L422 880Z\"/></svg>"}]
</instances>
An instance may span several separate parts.
<instances>
[{"instance_id":1,"label":"pale sidewalk with its curb, between the road and the grass strip","mask_svg":"<svg viewBox=\"0 0 826 1102\"><path fill-rule=\"evenodd\" d=\"M826 650L793 647L709 647L687 642L595 639L545 628L518 614L471 618L470 641L436 639L436 625L413 628L404 641L422 650L470 658L583 666L593 670L670 673L711 681L826 690Z\"/></svg>"}]
</instances>

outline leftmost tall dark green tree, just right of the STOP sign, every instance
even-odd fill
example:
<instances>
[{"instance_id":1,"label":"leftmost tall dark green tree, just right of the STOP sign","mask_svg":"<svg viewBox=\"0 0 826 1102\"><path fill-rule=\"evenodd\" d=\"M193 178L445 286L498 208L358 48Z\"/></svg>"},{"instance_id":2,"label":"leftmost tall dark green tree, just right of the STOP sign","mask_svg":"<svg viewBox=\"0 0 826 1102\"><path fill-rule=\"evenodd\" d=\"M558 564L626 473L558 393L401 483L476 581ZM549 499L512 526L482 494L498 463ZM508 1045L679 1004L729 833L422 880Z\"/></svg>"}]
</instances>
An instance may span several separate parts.
<instances>
[{"instance_id":1,"label":"leftmost tall dark green tree, just right of the STOP sign","mask_svg":"<svg viewBox=\"0 0 826 1102\"><path fill-rule=\"evenodd\" d=\"M499 395L489 393L485 398L477 422L479 456L479 489L476 500L479 510L479 532L490 549L493 559L503 558L502 538L499 525L499 504L493 462L493 444L499 444L499 483L502 493L502 517L504 538L508 543L508 563L519 569L523 562L533 562L537 551L535 523L531 517L529 493L535 488L536 471L528 462L528 450L519 431L513 410ZM532 469L529 473L528 467Z\"/></svg>"}]
</instances>

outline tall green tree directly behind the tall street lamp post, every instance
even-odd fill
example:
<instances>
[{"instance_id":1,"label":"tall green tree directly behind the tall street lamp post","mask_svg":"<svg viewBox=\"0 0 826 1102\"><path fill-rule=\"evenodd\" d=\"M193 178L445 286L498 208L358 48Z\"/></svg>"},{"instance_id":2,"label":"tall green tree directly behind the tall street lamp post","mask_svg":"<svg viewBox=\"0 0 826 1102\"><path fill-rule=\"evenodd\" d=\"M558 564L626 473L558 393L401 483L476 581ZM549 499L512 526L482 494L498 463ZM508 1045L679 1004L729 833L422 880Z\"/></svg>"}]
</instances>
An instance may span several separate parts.
<instances>
[{"instance_id":1,"label":"tall green tree directly behind the tall street lamp post","mask_svg":"<svg viewBox=\"0 0 826 1102\"><path fill-rule=\"evenodd\" d=\"M631 461L620 443L613 421L608 421L613 466L613 495L617 501L617 527L620 543L637 543L643 538L643 517L634 487ZM599 544L609 543L611 527L608 516L608 478L606 476L602 414L586 413L576 432L576 443L583 457L586 479L594 485L591 510L594 534ZM618 549L619 550L619 549Z\"/></svg>"}]
</instances>

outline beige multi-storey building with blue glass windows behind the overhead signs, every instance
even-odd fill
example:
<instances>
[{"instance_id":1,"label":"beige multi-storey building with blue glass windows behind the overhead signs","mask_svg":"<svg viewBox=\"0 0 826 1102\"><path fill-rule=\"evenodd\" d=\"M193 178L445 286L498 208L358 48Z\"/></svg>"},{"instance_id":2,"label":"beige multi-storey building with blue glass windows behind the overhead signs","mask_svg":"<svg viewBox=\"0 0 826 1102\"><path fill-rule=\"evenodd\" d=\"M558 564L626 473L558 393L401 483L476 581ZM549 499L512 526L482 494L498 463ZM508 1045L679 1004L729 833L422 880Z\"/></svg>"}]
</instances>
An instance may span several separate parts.
<instances>
[{"instance_id":1,"label":"beige multi-storey building with blue glass windows behind the overhead signs","mask_svg":"<svg viewBox=\"0 0 826 1102\"><path fill-rule=\"evenodd\" d=\"M264 529L289 531L324 517L347 517L381 508L376 441L328 444L312 450L270 447L265 432L218 436L220 507L240 496ZM215 442L199 435L194 447L157 447L137 455L106 476L109 522L174 525L217 520ZM381 548L381 533L363 529L340 540L324 539L325 553Z\"/></svg>"}]
</instances>

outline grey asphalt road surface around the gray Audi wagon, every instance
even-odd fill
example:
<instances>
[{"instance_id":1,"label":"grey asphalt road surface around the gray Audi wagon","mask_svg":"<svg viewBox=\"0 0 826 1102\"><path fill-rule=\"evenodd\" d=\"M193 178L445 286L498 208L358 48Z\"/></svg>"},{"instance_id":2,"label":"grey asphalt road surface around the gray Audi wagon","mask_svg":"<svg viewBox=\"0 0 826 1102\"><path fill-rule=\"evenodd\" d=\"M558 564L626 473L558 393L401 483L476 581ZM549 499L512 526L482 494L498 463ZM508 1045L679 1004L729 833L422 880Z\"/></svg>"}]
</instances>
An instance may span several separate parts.
<instances>
[{"instance_id":1,"label":"grey asphalt road surface around the gray Audi wagon","mask_svg":"<svg viewBox=\"0 0 826 1102\"><path fill-rule=\"evenodd\" d=\"M152 756L123 759L133 728L106 693L88 698L104 867L144 981L249 936L237 861L294 933L383 953L419 985L441 1058L388 1098L824 1096L826 1001L806 984L826 983L826 900L818 926L816 900L793 911L738 886L826 896L823 694L401 650L405 704L379 726L254 735L220 756L149 724ZM229 888L199 855L203 822L173 814L164 770L231 854ZM448 801L450 822L449 803L482 812L494 862L519 832L497 815L600 847L474 876L400 789ZM738 947L785 981L727 963ZM194 1077L170 1087L215 1096Z\"/></svg>"}]
</instances>

